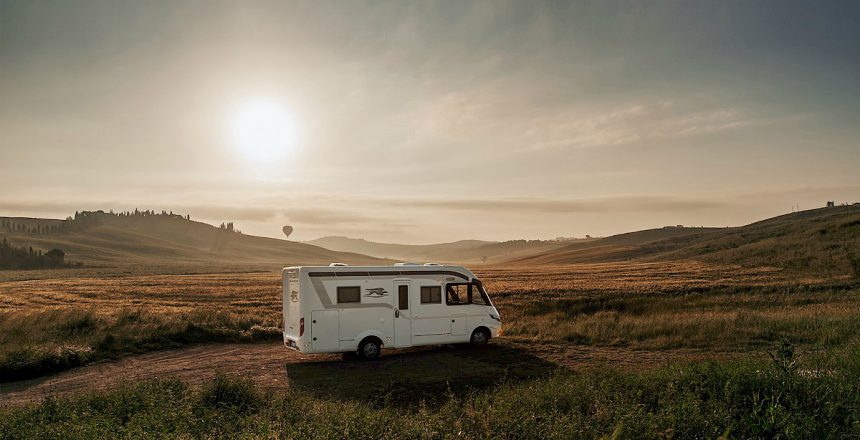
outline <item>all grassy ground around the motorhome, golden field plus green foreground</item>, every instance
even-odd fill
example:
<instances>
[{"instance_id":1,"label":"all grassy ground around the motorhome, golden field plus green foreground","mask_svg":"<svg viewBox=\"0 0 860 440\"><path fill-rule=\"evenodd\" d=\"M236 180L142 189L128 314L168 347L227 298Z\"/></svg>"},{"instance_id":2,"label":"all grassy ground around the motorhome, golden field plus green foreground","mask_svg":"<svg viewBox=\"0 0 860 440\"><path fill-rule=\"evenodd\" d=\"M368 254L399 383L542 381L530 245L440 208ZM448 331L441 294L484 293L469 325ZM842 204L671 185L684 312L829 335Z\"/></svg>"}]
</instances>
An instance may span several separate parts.
<instances>
[{"instance_id":1,"label":"all grassy ground around the motorhome, golden field plus green foreground","mask_svg":"<svg viewBox=\"0 0 860 440\"><path fill-rule=\"evenodd\" d=\"M278 273L172 272L7 274L0 378L202 342L279 340ZM504 320L491 350L288 363L289 388L278 389L229 375L202 385L135 380L0 409L0 438L858 435L856 281L695 262L476 272ZM580 368L565 359L575 347L613 356ZM645 358L678 350L713 361Z\"/></svg>"}]
</instances>

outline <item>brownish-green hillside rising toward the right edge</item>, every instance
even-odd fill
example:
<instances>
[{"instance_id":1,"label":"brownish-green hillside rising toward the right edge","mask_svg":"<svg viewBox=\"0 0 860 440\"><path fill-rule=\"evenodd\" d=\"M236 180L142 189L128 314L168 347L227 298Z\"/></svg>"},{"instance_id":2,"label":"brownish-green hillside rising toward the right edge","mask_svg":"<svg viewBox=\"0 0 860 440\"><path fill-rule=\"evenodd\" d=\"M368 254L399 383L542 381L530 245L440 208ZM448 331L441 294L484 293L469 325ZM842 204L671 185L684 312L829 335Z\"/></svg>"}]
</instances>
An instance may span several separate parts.
<instances>
[{"instance_id":1,"label":"brownish-green hillside rising toward the right edge","mask_svg":"<svg viewBox=\"0 0 860 440\"><path fill-rule=\"evenodd\" d=\"M675 229L674 233L672 229ZM521 264L693 259L743 266L772 266L819 275L860 276L860 206L786 214L742 227L667 228L572 244L512 259ZM636 242L638 237L655 240Z\"/></svg>"}]
</instances>

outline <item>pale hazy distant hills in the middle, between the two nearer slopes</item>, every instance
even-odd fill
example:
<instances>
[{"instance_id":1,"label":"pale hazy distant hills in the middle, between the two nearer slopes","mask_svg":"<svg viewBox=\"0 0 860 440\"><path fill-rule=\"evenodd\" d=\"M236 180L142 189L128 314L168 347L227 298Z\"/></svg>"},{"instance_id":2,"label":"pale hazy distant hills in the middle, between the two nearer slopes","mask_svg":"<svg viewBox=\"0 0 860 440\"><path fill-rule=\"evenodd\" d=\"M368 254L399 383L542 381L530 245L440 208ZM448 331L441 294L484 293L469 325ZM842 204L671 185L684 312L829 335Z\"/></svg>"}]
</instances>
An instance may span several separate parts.
<instances>
[{"instance_id":1,"label":"pale hazy distant hills in the middle, between the two nearer slopes","mask_svg":"<svg viewBox=\"0 0 860 440\"><path fill-rule=\"evenodd\" d=\"M583 240L585 241L585 240ZM532 255L564 246L573 241L512 240L491 242L462 240L427 245L376 243L360 238L322 237L305 243L326 249L357 252L376 257L416 262L498 262L519 255Z\"/></svg>"}]
</instances>

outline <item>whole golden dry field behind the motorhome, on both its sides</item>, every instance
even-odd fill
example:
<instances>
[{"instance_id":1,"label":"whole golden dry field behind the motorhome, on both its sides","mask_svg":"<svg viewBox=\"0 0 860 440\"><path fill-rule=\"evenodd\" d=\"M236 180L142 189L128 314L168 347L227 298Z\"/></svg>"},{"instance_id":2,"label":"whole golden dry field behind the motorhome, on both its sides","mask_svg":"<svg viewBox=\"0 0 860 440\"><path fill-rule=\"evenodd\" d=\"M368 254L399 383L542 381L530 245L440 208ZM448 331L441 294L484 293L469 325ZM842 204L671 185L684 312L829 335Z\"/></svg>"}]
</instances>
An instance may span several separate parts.
<instances>
[{"instance_id":1,"label":"whole golden dry field behind the motorhome, on both its sides","mask_svg":"<svg viewBox=\"0 0 860 440\"><path fill-rule=\"evenodd\" d=\"M482 266L519 343L746 351L789 338L857 342L860 299L845 280L696 262ZM4 380L202 342L277 340L277 272L39 273L0 282ZM15 278L13 278L15 279Z\"/></svg>"}]
</instances>

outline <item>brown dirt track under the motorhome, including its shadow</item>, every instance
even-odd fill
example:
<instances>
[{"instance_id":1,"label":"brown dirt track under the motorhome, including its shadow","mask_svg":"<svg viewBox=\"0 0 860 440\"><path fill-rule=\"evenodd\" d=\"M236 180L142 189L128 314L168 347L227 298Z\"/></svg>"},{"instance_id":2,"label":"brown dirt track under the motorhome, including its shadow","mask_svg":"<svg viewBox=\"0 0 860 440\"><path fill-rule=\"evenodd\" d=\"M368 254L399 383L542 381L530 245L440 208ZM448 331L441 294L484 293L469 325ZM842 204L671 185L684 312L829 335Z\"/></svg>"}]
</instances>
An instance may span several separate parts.
<instances>
[{"instance_id":1,"label":"brown dirt track under the motorhome, including its shadow","mask_svg":"<svg viewBox=\"0 0 860 440\"><path fill-rule=\"evenodd\" d=\"M730 356L693 350L642 351L569 344L497 341L481 349L422 347L385 350L371 362L343 361L340 355L303 355L280 343L206 344L165 350L116 361L99 362L38 379L0 384L0 405L38 401L109 389L123 383L178 377L192 384L210 380L216 372L253 379L262 386L301 387L309 392L362 397L378 389L357 390L356 383L396 381L472 386L502 376L529 378L558 368L602 365L654 367L668 362ZM380 378L385 380L380 381Z\"/></svg>"}]
</instances>

